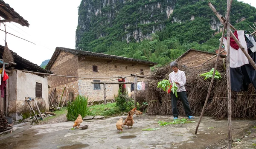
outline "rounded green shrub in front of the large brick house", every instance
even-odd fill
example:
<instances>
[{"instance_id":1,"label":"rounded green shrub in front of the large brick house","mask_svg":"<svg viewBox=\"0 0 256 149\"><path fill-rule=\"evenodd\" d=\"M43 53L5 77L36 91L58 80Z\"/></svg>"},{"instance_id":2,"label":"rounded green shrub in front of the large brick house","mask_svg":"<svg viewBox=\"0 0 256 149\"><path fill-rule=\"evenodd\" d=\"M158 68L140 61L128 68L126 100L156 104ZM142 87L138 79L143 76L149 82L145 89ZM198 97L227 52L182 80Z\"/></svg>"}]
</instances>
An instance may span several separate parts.
<instances>
[{"instance_id":1,"label":"rounded green shrub in front of the large brick house","mask_svg":"<svg viewBox=\"0 0 256 149\"><path fill-rule=\"evenodd\" d=\"M134 108L134 101L132 98L128 97L128 93L122 93L122 86L118 90L118 95L115 96L116 106L120 111L128 112Z\"/></svg>"}]
</instances>

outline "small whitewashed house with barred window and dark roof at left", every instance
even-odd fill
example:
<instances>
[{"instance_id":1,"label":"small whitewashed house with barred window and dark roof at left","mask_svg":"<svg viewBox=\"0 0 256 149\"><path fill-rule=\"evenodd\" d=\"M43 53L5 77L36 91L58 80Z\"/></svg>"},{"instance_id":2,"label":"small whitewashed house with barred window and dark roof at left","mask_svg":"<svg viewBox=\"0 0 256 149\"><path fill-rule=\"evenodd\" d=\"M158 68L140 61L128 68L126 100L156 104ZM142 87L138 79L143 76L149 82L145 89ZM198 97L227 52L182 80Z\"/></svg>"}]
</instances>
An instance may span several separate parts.
<instances>
[{"instance_id":1,"label":"small whitewashed house with barred window and dark roof at left","mask_svg":"<svg viewBox=\"0 0 256 149\"><path fill-rule=\"evenodd\" d=\"M4 46L0 45L0 57L3 56ZM10 50L11 51L11 50ZM16 65L7 64L6 73L9 79L6 81L4 98L0 98L0 110L6 111L7 115L12 116L13 120L21 120L31 115L31 109L25 101L26 97L35 98L41 112L48 111L48 81L45 75L36 75L23 72L23 70L52 73L40 66L23 59L17 53L11 51ZM3 61L0 61L3 65ZM2 66L0 66L2 67ZM35 103L30 102L35 110Z\"/></svg>"}]
</instances>

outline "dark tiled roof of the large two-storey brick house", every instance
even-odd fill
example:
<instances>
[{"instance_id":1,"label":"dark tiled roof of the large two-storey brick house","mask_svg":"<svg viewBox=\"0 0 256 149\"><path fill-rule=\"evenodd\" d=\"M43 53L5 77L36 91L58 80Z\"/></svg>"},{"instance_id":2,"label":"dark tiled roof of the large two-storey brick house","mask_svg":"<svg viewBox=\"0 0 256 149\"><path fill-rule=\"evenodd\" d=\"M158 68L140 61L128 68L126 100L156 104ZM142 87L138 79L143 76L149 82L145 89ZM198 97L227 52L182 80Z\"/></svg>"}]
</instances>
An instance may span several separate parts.
<instances>
[{"instance_id":1,"label":"dark tiled roof of the large two-storey brick house","mask_svg":"<svg viewBox=\"0 0 256 149\"><path fill-rule=\"evenodd\" d=\"M137 62L137 63L143 63L143 64L149 64L149 65L156 65L157 64L155 62L149 62L149 61L144 61L144 60L140 60L140 59L132 59L132 58L122 57L122 56L115 56L115 55L109 55L109 54L103 54L103 53L94 53L94 52L89 52L89 51L81 51L81 50L57 47L55 49L55 52L52 55L52 58L50 59L47 66L45 67L45 69L50 70L53 63L57 59L60 51L65 51L65 52L68 52L68 53L72 53L74 55L98 57L98 58L102 58L102 59L114 59L114 60Z\"/></svg>"}]
</instances>

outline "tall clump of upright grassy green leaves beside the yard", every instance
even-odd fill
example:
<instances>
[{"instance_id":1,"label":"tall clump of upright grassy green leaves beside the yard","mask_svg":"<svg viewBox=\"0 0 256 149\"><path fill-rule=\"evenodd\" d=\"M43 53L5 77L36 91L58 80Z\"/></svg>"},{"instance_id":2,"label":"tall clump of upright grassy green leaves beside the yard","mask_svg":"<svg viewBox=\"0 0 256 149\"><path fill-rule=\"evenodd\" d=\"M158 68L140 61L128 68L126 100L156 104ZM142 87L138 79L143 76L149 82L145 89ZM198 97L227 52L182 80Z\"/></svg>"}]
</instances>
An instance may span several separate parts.
<instances>
[{"instance_id":1,"label":"tall clump of upright grassy green leaves beside the yard","mask_svg":"<svg viewBox=\"0 0 256 149\"><path fill-rule=\"evenodd\" d=\"M67 104L67 120L75 121L80 114L82 118L87 115L89 108L87 107L88 97L81 95L76 96L73 102L68 102Z\"/></svg>"}]
</instances>

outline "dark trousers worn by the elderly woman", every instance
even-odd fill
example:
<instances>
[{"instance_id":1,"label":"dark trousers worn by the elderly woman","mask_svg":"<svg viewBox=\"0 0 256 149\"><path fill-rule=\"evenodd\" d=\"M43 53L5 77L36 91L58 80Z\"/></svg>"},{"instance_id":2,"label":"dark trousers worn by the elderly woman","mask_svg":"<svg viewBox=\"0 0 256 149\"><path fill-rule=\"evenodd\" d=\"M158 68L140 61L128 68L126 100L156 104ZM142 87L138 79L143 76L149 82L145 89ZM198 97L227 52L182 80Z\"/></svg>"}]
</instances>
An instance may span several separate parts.
<instances>
[{"instance_id":1,"label":"dark trousers worn by the elderly woman","mask_svg":"<svg viewBox=\"0 0 256 149\"><path fill-rule=\"evenodd\" d=\"M178 117L179 116L179 111L177 109L177 101L181 100L182 104L183 104L183 107L184 107L184 110L185 110L185 113L186 113L186 116L192 116L192 112L189 108L189 101L187 99L187 96L186 96L186 91L184 92L177 92L177 95L178 95L178 98L175 96L175 94L173 94L171 92L171 97L172 97L172 114L173 114L173 117Z\"/></svg>"}]
</instances>

